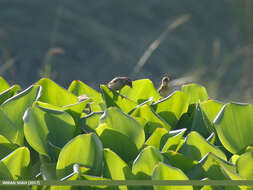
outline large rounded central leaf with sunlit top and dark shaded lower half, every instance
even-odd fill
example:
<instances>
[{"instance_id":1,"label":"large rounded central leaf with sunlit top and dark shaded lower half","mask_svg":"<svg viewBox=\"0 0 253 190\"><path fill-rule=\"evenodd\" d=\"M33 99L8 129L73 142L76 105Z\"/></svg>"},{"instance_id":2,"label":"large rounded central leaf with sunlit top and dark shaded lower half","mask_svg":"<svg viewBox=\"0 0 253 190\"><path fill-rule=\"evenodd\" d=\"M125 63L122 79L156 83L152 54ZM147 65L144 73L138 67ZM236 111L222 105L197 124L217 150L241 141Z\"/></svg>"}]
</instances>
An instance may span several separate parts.
<instances>
[{"instance_id":1,"label":"large rounded central leaf with sunlit top and dark shaded lower half","mask_svg":"<svg viewBox=\"0 0 253 190\"><path fill-rule=\"evenodd\" d=\"M96 132L104 147L112 149L125 161L134 159L145 141L143 127L116 107L105 110Z\"/></svg>"}]
</instances>

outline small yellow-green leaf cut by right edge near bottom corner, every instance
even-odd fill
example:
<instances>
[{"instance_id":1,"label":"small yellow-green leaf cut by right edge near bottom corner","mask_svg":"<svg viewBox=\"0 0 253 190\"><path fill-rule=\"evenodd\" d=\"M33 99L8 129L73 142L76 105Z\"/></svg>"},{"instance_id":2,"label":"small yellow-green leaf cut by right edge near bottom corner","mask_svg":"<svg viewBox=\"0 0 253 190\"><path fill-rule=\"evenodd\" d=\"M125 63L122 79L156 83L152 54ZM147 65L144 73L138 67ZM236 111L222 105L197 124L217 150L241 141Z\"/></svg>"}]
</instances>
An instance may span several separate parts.
<instances>
[{"instance_id":1,"label":"small yellow-green leaf cut by right edge near bottom corner","mask_svg":"<svg viewBox=\"0 0 253 190\"><path fill-rule=\"evenodd\" d=\"M236 161L236 167L239 175L247 180L253 179L253 152L242 154Z\"/></svg>"}]
</instances>

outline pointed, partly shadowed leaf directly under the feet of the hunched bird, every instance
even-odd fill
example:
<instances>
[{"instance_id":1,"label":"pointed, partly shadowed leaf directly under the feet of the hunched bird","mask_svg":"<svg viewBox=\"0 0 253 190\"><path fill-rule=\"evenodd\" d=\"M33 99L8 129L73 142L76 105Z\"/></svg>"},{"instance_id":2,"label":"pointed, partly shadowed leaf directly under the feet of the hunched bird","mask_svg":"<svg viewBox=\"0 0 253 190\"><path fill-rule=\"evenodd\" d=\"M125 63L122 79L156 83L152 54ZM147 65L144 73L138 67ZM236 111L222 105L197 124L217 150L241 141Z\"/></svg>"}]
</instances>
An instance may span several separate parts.
<instances>
[{"instance_id":1,"label":"pointed, partly shadowed leaf directly under the feet of the hunched bird","mask_svg":"<svg viewBox=\"0 0 253 190\"><path fill-rule=\"evenodd\" d=\"M129 113L133 110L138 104L128 97L120 95L118 92L109 89L106 85L100 86L103 98L106 103L106 107L118 107L122 111Z\"/></svg>"}]
</instances>

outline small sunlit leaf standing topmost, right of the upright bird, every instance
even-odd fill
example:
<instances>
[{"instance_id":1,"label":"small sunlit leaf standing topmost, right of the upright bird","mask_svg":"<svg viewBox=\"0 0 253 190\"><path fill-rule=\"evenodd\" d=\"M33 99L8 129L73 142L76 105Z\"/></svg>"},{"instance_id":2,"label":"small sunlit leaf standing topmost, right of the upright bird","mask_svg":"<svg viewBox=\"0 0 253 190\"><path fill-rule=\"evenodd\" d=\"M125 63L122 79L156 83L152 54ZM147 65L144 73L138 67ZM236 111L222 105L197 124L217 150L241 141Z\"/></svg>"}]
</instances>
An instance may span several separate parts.
<instances>
[{"instance_id":1,"label":"small sunlit leaf standing topmost, right of the upright bird","mask_svg":"<svg viewBox=\"0 0 253 190\"><path fill-rule=\"evenodd\" d=\"M182 90L190 97L190 104L208 100L206 88L201 85L195 83L183 85Z\"/></svg>"}]
</instances>

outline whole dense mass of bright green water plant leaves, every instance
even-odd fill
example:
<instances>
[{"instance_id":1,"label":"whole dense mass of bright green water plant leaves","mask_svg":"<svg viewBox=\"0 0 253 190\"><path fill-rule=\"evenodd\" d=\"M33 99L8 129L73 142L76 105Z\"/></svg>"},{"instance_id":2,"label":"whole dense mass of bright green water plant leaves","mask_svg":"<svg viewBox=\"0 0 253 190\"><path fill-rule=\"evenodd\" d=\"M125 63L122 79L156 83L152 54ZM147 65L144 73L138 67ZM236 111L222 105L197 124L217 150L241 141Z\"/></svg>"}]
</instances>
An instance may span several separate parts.
<instances>
[{"instance_id":1,"label":"whole dense mass of bright green water plant leaves","mask_svg":"<svg viewBox=\"0 0 253 190\"><path fill-rule=\"evenodd\" d=\"M121 95L100 87L73 81L66 90L43 78L21 90L0 78L0 179L253 179L251 104L209 99L197 84L163 99L149 79ZM194 187L207 188L216 189Z\"/></svg>"}]
</instances>

